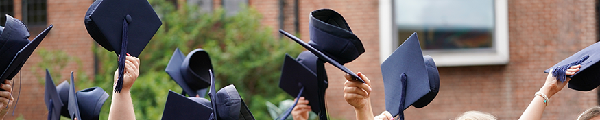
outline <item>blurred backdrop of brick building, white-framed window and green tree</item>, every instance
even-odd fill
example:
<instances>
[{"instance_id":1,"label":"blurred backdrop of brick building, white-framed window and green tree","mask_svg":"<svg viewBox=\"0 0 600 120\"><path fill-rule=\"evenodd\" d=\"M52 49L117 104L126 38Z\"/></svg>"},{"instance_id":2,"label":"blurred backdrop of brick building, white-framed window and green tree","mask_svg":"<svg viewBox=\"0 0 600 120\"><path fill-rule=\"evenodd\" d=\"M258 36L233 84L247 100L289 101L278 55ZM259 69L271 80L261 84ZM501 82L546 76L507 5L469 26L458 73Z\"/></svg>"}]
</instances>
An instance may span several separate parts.
<instances>
[{"instance_id":1,"label":"blurred backdrop of brick building, white-framed window and green tree","mask_svg":"<svg viewBox=\"0 0 600 120\"><path fill-rule=\"evenodd\" d=\"M77 90L101 86L112 95L117 56L100 47L84 27L94 0L0 0L0 14L21 19L34 35L54 25L32 58L14 78L21 93L14 116L46 119L44 69L55 83L75 72ZM269 109L293 99L278 80L285 53L304 50L284 38L285 29L309 41L309 13L331 8L344 16L366 49L346 64L372 81L375 115L385 110L379 64L411 33L440 72L440 93L424 108L405 110L407 119L454 119L468 110L517 119L544 83L553 64L600 40L596 0L149 0L163 26L141 56L132 88L137 119L160 119L167 91L182 91L165 73L176 48L205 49L215 67L217 89L234 84L256 119L272 119ZM0 16L0 25L5 23ZM448 60L446 56L473 58ZM479 59L499 56L498 60ZM496 58L491 58L496 59ZM456 61L468 61L457 63ZM355 119L343 97L344 73L326 65L331 119ZM22 82L22 83L21 83ZM21 84L21 86L19 86ZM551 98L543 119L576 119L599 105L599 93L565 88ZM269 104L272 103L272 104ZM285 102L283 102L285 103ZM269 106L269 107L267 107ZM286 105L287 106L287 105ZM107 119L110 99L100 118ZM63 119L67 119L63 117Z\"/></svg>"}]
</instances>

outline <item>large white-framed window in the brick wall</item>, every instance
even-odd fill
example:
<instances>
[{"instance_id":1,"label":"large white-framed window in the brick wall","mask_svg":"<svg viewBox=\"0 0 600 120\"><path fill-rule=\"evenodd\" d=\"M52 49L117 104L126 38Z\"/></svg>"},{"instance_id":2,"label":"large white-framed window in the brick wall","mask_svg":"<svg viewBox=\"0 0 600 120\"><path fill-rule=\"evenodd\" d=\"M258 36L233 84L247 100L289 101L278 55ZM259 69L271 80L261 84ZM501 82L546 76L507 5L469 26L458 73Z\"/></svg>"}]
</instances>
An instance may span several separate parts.
<instances>
[{"instance_id":1,"label":"large white-framed window in the brick wall","mask_svg":"<svg viewBox=\"0 0 600 120\"><path fill-rule=\"evenodd\" d=\"M506 0L380 0L380 57L417 32L438 67L507 64Z\"/></svg>"}]
</instances>

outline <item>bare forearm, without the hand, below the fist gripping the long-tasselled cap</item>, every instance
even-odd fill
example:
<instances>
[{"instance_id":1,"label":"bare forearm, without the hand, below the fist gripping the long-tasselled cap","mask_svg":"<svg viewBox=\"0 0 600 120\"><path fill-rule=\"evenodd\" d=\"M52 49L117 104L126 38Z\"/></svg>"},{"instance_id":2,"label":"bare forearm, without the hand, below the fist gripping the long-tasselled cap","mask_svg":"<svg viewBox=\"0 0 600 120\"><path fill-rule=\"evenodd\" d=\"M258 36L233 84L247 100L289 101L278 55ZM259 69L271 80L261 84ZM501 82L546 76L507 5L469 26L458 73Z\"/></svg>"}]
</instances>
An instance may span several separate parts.
<instances>
[{"instance_id":1,"label":"bare forearm, without the hand, below the fist gripping the long-tasselled cap","mask_svg":"<svg viewBox=\"0 0 600 120\"><path fill-rule=\"evenodd\" d=\"M135 119L133 102L129 90L123 89L121 93L112 93L112 104L110 104L108 119Z\"/></svg>"}]
</instances>

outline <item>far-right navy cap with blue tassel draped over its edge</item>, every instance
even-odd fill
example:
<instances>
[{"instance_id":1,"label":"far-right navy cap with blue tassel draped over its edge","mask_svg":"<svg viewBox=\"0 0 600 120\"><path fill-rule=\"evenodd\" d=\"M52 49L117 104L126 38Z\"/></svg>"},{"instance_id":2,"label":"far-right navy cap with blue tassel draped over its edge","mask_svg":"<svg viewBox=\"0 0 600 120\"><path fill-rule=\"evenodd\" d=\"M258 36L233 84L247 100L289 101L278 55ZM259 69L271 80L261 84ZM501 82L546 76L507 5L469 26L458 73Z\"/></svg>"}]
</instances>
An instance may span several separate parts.
<instances>
[{"instance_id":1,"label":"far-right navy cap with blue tassel draped over its edge","mask_svg":"<svg viewBox=\"0 0 600 120\"><path fill-rule=\"evenodd\" d=\"M571 77L571 80L568 82L568 88L577 91L591 91L600 85L600 74L598 73L600 71L600 64L597 64L600 61L599 51L600 43L594 43L558 62L544 72L549 73L550 69L554 68L552 73L558 80L564 82L566 77ZM575 72L574 75L566 76L566 69L577 64L581 64L579 71Z\"/></svg>"}]
</instances>

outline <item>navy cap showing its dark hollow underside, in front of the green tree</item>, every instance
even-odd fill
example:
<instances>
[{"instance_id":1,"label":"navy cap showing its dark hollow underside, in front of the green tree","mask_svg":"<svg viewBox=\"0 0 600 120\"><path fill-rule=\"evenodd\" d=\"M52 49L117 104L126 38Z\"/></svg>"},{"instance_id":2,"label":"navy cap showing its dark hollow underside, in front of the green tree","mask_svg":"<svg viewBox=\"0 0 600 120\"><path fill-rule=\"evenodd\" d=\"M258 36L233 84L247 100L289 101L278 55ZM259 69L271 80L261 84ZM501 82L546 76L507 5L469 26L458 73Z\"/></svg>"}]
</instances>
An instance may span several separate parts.
<instances>
[{"instance_id":1,"label":"navy cap showing its dark hollow underside, in front of the green tree","mask_svg":"<svg viewBox=\"0 0 600 120\"><path fill-rule=\"evenodd\" d=\"M213 64L204 49L194 49L185 56L177 48L165 71L181 86L182 95L204 97L208 86L211 85L208 69L213 69Z\"/></svg>"}]
</instances>

